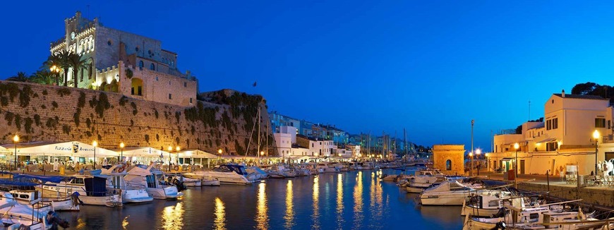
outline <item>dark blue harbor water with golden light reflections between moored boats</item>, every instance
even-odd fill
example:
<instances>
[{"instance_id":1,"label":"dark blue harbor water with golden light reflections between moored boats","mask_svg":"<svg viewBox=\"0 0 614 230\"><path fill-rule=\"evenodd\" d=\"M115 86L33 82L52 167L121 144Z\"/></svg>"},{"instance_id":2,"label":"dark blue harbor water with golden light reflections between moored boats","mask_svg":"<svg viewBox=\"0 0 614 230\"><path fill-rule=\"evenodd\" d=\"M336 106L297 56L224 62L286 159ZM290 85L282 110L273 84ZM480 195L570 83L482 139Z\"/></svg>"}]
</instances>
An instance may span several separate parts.
<instances>
[{"instance_id":1,"label":"dark blue harbor water with golden light reflections between moored boats","mask_svg":"<svg viewBox=\"0 0 614 230\"><path fill-rule=\"evenodd\" d=\"M60 212L71 229L462 229L460 207L422 207L380 181L392 169L347 171L251 186L188 188L179 200Z\"/></svg>"}]
</instances>

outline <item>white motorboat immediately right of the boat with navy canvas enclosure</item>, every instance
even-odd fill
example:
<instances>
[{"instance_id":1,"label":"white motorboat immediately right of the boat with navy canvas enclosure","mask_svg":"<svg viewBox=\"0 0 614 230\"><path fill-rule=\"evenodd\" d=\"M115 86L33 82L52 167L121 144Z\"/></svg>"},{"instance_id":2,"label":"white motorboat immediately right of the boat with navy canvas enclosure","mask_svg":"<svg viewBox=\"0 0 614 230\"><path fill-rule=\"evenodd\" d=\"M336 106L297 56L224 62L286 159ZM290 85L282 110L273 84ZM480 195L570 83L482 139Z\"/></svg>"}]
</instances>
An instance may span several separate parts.
<instances>
[{"instance_id":1,"label":"white motorboat immediately right of the boat with navy canvas enclosure","mask_svg":"<svg viewBox=\"0 0 614 230\"><path fill-rule=\"evenodd\" d=\"M126 203L152 201L152 196L147 193L142 183L135 183L124 179L124 176L128 173L123 168L121 165L114 165L109 169L101 169L102 172L100 174L109 176L107 179L107 189L112 190L114 193L120 193L121 200Z\"/></svg>"}]
</instances>

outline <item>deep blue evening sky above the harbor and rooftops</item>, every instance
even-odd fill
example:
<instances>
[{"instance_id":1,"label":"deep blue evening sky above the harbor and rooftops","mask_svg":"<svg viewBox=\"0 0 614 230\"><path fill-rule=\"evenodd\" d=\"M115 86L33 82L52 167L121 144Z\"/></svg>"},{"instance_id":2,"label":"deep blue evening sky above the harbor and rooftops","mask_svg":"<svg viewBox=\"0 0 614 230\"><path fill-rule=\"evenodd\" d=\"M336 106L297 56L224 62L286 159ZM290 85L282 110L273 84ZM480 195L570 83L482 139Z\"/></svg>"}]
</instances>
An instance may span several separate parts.
<instances>
[{"instance_id":1,"label":"deep blue evening sky above the harbor and rooftops","mask_svg":"<svg viewBox=\"0 0 614 230\"><path fill-rule=\"evenodd\" d=\"M200 90L351 133L490 151L552 93L614 85L613 1L13 1L0 78L34 72L75 11L162 41ZM252 84L257 81L258 86Z\"/></svg>"}]
</instances>

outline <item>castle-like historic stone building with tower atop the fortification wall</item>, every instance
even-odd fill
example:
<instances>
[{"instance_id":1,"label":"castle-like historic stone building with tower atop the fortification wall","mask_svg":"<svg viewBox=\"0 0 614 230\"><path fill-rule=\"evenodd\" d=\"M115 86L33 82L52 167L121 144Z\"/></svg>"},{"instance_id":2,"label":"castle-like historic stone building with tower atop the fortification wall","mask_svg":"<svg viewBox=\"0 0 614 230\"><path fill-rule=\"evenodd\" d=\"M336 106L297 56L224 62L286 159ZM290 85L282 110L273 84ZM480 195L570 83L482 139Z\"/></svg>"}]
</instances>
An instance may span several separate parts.
<instances>
[{"instance_id":1,"label":"castle-like historic stone building with tower atop the fortification wall","mask_svg":"<svg viewBox=\"0 0 614 230\"><path fill-rule=\"evenodd\" d=\"M73 52L86 61L77 76L72 69L68 71L69 85L103 87L153 102L195 105L196 78L190 71L179 71L177 54L162 49L159 40L107 28L98 18L83 18L78 11L64 22L64 37L51 43L51 53Z\"/></svg>"}]
</instances>

